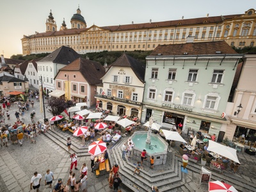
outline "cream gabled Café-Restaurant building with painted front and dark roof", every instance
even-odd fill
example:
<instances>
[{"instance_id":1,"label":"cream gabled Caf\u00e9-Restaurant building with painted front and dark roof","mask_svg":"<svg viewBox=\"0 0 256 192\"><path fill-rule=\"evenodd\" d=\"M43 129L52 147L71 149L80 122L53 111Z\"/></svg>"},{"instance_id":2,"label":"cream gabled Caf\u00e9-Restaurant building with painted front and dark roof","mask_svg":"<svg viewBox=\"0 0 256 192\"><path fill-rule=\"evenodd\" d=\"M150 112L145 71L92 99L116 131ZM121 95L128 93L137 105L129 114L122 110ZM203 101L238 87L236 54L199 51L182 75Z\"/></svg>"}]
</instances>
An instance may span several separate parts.
<instances>
[{"instance_id":1,"label":"cream gabled Caf\u00e9-Restaurant building with painted front and dark roof","mask_svg":"<svg viewBox=\"0 0 256 192\"><path fill-rule=\"evenodd\" d=\"M134 67L137 67L136 69ZM97 86L97 106L113 115L141 117L145 65L123 54Z\"/></svg>"}]
</instances>

